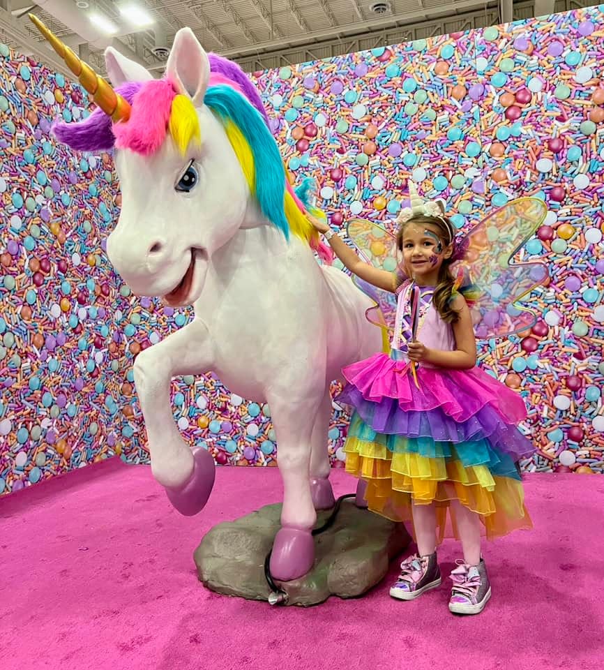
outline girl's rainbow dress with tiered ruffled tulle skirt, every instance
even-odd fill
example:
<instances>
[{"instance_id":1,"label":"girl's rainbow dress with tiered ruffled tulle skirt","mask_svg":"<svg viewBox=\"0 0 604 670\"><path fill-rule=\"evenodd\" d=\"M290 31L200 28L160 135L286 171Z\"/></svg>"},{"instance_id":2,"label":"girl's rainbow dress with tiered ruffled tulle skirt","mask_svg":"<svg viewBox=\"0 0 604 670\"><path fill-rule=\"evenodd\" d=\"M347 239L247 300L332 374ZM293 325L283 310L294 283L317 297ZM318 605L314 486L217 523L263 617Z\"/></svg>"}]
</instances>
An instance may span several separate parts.
<instances>
[{"instance_id":1,"label":"girl's rainbow dress with tiered ruffled tulle skirt","mask_svg":"<svg viewBox=\"0 0 604 670\"><path fill-rule=\"evenodd\" d=\"M418 341L454 350L451 325L421 290ZM398 290L405 313L409 285ZM411 338L409 320L398 332ZM515 463L535 452L517 428L527 415L517 393L480 368L450 370L421 364L418 385L409 373L406 346L393 341L343 370L347 385L338 402L354 407L345 443L346 469L368 482L369 509L412 522L412 502L437 506L439 539L458 535L458 500L480 515L488 538L531 528ZM452 526L447 526L447 510ZM446 532L448 530L448 532Z\"/></svg>"}]
</instances>

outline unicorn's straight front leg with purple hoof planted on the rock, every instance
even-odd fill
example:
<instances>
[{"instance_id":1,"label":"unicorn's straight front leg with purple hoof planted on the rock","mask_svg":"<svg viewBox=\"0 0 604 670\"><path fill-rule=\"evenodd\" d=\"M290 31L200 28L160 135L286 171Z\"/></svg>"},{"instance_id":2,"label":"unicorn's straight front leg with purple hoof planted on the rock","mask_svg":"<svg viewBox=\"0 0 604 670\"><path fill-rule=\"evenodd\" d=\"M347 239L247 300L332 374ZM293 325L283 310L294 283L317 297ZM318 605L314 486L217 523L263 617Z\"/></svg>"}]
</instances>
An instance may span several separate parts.
<instances>
[{"instance_id":1,"label":"unicorn's straight front leg with purple hoof planted on the rock","mask_svg":"<svg viewBox=\"0 0 604 670\"><path fill-rule=\"evenodd\" d=\"M271 574L280 581L290 581L306 574L315 563L312 526L317 513L308 475L310 434L319 402L296 402L291 398L269 403L277 433L277 464L283 479L281 528L273 543Z\"/></svg>"}]
</instances>

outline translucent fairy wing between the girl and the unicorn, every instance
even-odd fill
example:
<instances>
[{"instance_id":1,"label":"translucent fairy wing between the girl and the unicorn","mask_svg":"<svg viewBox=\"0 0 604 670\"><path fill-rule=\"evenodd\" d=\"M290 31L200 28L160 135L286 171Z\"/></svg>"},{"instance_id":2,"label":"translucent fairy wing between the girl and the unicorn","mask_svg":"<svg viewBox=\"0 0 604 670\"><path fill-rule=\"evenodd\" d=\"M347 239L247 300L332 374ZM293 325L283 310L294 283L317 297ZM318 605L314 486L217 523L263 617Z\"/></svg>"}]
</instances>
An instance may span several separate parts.
<instances>
[{"instance_id":1,"label":"translucent fairy wing between the girl and the unicorn","mask_svg":"<svg viewBox=\"0 0 604 670\"><path fill-rule=\"evenodd\" d=\"M396 238L381 225L363 218L354 218L347 224L347 234L358 251L358 255L373 267L388 272L398 270L396 258ZM363 281L353 276L354 283L368 295L375 306L370 307L365 315L368 320L386 330L393 332L396 317L396 295L390 291Z\"/></svg>"}]
</instances>

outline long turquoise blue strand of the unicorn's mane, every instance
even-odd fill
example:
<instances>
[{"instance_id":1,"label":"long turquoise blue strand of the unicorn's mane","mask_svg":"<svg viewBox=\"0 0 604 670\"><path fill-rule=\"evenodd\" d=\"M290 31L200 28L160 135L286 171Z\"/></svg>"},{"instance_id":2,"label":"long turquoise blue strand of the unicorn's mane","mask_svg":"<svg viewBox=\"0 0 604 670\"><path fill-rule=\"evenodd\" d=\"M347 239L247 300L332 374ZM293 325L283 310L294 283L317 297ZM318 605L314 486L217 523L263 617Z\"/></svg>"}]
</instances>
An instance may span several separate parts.
<instances>
[{"instance_id":1,"label":"long turquoise blue strand of the unicorn's mane","mask_svg":"<svg viewBox=\"0 0 604 670\"><path fill-rule=\"evenodd\" d=\"M217 84L206 91L204 103L222 121L232 121L250 145L255 165L255 196L262 214L289 239L285 217L285 169L277 143L258 110L238 91Z\"/></svg>"}]
</instances>

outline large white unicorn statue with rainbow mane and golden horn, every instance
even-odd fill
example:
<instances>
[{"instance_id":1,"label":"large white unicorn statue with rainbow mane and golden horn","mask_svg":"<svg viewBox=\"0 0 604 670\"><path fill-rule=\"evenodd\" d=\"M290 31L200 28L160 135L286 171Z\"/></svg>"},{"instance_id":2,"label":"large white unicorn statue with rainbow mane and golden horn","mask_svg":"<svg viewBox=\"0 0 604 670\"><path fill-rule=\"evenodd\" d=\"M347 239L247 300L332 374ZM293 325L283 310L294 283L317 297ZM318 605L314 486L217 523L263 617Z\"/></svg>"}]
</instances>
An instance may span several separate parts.
<instances>
[{"instance_id":1,"label":"large white unicorn statue with rainbow mane and golden horn","mask_svg":"<svg viewBox=\"0 0 604 670\"><path fill-rule=\"evenodd\" d=\"M382 347L365 318L373 303L317 262L317 233L239 66L206 54L184 28L161 80L108 49L114 90L30 17L98 105L84 121L56 124L55 136L78 151L114 150L122 207L107 241L112 265L135 295L195 311L135 360L153 477L186 515L204 507L214 482L211 454L191 449L174 424L175 375L213 371L269 403L284 488L271 574L299 578L315 558L315 510L334 502L330 382Z\"/></svg>"}]
</instances>

